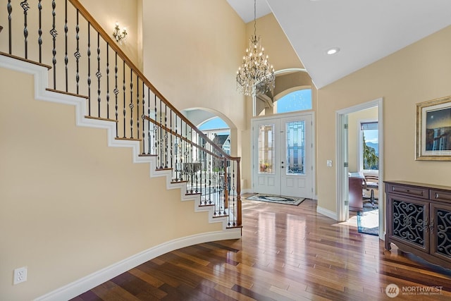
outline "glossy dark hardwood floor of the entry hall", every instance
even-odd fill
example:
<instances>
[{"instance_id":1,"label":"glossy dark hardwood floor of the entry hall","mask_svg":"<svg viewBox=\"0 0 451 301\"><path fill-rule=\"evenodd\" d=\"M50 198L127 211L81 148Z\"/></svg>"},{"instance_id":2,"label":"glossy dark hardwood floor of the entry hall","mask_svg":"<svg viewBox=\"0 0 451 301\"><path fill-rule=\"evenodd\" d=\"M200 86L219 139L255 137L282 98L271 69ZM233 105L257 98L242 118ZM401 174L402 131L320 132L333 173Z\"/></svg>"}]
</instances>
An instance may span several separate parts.
<instances>
[{"instance_id":1,"label":"glossy dark hardwood floor of the entry hall","mask_svg":"<svg viewBox=\"0 0 451 301\"><path fill-rule=\"evenodd\" d=\"M390 284L399 288L393 299L385 293ZM352 223L317 214L314 200L290 206L243 199L240 240L164 254L73 301L450 299L450 270L420 264L395 245L384 250L382 240Z\"/></svg>"}]
</instances>

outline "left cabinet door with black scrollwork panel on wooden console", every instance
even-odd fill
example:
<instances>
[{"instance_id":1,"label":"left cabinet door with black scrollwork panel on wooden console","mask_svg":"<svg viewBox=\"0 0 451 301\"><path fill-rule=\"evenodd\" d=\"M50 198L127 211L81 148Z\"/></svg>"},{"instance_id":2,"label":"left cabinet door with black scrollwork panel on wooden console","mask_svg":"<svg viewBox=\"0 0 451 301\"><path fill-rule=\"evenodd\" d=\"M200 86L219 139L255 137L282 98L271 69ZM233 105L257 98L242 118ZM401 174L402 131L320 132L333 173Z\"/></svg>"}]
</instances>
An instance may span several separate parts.
<instances>
[{"instance_id":1,"label":"left cabinet door with black scrollwork panel on wooden console","mask_svg":"<svg viewBox=\"0 0 451 301\"><path fill-rule=\"evenodd\" d=\"M388 196L388 235L424 252L429 252L429 203L402 196Z\"/></svg>"}]
</instances>

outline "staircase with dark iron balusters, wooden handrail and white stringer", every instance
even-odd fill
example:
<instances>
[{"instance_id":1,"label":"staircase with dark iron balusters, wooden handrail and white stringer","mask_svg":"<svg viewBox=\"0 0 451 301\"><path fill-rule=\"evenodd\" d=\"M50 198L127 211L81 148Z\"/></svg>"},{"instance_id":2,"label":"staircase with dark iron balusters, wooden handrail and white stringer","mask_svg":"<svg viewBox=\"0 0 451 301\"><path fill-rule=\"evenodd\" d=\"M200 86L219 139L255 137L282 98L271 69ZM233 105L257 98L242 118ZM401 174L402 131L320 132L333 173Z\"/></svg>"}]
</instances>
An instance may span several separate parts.
<instances>
[{"instance_id":1,"label":"staircase with dark iron balusters, wooden handrail and white stringer","mask_svg":"<svg viewBox=\"0 0 451 301\"><path fill-rule=\"evenodd\" d=\"M240 238L240 158L223 152L168 102L78 1L8 1L0 9L1 68L34 75L35 99L75 106L76 125L106 129L109 147L130 147L134 163L149 164L151 178L163 177L166 190L180 190L180 200L223 225L209 240ZM119 266L97 279L130 263ZM87 288L92 281L80 283Z\"/></svg>"}]
</instances>

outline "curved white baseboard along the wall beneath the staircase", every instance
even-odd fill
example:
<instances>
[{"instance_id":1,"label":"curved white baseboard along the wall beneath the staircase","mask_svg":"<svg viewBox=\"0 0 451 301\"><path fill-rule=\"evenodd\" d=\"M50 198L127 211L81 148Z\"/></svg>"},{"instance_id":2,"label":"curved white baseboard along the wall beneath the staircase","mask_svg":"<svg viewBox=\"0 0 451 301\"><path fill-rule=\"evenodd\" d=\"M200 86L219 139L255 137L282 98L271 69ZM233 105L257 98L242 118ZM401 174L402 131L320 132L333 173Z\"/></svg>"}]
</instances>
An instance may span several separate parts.
<instances>
[{"instance_id":1,"label":"curved white baseboard along the wall beneath the staircase","mask_svg":"<svg viewBox=\"0 0 451 301\"><path fill-rule=\"evenodd\" d=\"M47 293L46 295L42 295L41 297L36 298L35 301L70 300L73 297L85 293L87 290L95 288L101 283L109 281L111 278L123 274L125 271L133 269L135 266L139 266L140 264L144 264L144 262L148 262L155 257L159 257L161 254L166 254L167 252L180 249L181 247L197 245L203 242L239 238L241 238L241 228L228 229L227 231L201 233L164 242L161 245L152 247L149 250L135 254L127 259L121 260L121 262L117 262L116 264L107 266L100 271L96 271L88 276L80 278L73 283L64 285L63 287Z\"/></svg>"}]
</instances>

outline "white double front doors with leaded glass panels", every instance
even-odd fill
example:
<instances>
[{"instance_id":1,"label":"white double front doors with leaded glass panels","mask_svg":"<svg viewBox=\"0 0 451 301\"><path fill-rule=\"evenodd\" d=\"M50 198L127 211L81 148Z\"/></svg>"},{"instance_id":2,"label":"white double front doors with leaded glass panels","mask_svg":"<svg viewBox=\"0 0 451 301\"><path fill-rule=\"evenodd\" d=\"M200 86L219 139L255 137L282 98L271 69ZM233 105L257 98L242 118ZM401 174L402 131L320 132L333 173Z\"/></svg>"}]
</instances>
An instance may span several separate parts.
<instances>
[{"instance_id":1,"label":"white double front doors with leaded glass panels","mask_svg":"<svg viewBox=\"0 0 451 301\"><path fill-rule=\"evenodd\" d=\"M254 192L313 197L312 113L252 121Z\"/></svg>"}]
</instances>

